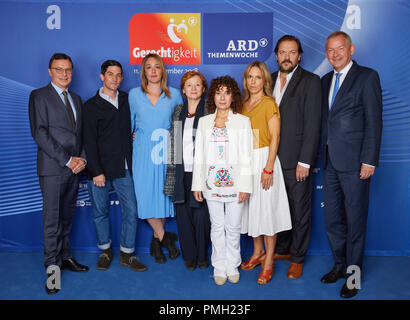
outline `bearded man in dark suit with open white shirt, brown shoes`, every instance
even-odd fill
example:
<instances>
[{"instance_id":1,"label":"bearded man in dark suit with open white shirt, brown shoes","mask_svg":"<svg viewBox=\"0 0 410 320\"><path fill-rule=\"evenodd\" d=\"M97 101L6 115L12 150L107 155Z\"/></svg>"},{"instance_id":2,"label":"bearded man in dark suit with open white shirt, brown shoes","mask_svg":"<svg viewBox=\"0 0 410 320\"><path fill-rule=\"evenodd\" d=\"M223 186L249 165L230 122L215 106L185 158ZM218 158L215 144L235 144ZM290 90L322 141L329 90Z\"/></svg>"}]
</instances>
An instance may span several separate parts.
<instances>
[{"instance_id":1,"label":"bearded man in dark suit with open white shirt, brown shoes","mask_svg":"<svg viewBox=\"0 0 410 320\"><path fill-rule=\"evenodd\" d=\"M312 170L320 139L320 78L299 66L298 38L285 35L276 44L279 70L272 74L273 96L281 118L278 157L283 169L292 230L277 236L275 260L290 260L288 277L302 276L312 221Z\"/></svg>"}]
</instances>

